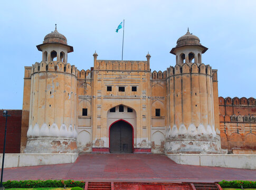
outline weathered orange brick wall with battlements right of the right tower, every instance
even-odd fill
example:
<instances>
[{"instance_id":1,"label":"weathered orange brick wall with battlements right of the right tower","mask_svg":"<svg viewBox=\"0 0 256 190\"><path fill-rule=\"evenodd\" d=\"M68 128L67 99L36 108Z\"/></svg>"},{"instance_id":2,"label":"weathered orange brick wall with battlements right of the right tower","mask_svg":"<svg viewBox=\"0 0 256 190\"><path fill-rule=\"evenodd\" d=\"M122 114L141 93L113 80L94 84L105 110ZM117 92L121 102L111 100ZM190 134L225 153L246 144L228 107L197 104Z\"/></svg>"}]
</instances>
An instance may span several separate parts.
<instances>
[{"instance_id":1,"label":"weathered orange brick wall with battlements right of the right tower","mask_svg":"<svg viewBox=\"0 0 256 190\"><path fill-rule=\"evenodd\" d=\"M254 98L219 97L222 149L255 154L256 101Z\"/></svg>"}]
</instances>

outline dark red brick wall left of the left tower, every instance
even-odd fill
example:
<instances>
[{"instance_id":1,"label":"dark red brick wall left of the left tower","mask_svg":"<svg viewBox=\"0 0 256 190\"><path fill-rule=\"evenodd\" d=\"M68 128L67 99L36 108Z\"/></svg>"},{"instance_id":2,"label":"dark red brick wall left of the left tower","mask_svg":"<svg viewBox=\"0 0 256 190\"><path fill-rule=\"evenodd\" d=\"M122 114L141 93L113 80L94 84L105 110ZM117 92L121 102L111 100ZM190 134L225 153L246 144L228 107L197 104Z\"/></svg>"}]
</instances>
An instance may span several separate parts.
<instances>
[{"instance_id":1,"label":"dark red brick wall left of the left tower","mask_svg":"<svg viewBox=\"0 0 256 190\"><path fill-rule=\"evenodd\" d=\"M22 110L8 110L5 153L20 153ZM5 117L0 111L0 153L4 146Z\"/></svg>"}]
</instances>

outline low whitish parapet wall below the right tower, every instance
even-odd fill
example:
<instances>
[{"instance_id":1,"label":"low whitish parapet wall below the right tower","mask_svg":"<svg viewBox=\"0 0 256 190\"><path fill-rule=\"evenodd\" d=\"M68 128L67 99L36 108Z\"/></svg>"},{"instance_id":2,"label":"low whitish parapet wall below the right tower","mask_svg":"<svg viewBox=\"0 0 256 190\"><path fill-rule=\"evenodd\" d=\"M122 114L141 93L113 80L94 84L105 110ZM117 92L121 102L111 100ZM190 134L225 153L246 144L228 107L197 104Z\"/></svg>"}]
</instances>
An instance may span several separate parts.
<instances>
[{"instance_id":1,"label":"low whitish parapet wall below the right tower","mask_svg":"<svg viewBox=\"0 0 256 190\"><path fill-rule=\"evenodd\" d=\"M256 155L168 154L177 164L256 169Z\"/></svg>"}]
</instances>

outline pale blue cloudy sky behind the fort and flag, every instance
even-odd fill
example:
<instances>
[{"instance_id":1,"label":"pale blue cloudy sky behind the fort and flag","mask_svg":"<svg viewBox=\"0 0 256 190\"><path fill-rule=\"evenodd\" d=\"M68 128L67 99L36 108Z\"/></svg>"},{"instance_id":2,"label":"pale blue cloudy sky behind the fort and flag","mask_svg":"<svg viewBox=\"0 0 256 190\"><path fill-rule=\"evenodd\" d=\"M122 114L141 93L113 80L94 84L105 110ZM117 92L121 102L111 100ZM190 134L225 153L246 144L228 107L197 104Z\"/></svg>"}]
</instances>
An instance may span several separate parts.
<instances>
[{"instance_id":1,"label":"pale blue cloudy sky behind the fort and flag","mask_svg":"<svg viewBox=\"0 0 256 190\"><path fill-rule=\"evenodd\" d=\"M153 72L175 66L169 51L189 31L208 50L202 62L218 70L219 96L256 98L256 1L2 1L0 6L0 109L22 109L24 67L42 61L36 45L54 31L65 35L74 52L68 62L79 70L99 60L151 55Z\"/></svg>"}]
</instances>

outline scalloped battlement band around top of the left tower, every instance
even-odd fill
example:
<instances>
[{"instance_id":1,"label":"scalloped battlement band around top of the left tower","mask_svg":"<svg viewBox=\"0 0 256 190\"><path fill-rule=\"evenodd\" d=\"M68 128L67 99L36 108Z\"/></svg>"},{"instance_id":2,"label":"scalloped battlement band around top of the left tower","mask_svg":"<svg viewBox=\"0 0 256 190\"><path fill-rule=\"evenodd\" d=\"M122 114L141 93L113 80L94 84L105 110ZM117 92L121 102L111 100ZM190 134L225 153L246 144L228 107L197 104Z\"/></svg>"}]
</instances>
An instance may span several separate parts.
<instances>
[{"instance_id":1,"label":"scalloped battlement band around top of the left tower","mask_svg":"<svg viewBox=\"0 0 256 190\"><path fill-rule=\"evenodd\" d=\"M64 62L58 62L58 61L51 61L49 63L46 63L45 61L41 61L40 63L35 62L35 64L32 65L31 75L34 73L48 72L48 71L64 72L64 73L69 73L77 76L78 70L75 67L75 65L70 65L70 63L64 63Z\"/></svg>"}]
</instances>

